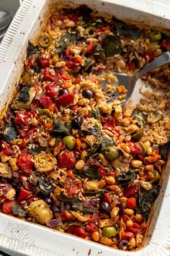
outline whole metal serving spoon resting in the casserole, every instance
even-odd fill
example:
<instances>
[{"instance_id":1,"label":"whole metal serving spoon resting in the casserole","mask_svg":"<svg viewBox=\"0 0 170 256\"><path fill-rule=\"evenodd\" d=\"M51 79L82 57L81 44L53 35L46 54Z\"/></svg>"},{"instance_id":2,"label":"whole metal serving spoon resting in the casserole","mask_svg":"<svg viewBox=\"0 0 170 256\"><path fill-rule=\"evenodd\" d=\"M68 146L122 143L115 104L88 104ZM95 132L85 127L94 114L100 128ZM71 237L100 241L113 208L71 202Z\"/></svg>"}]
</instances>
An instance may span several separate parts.
<instances>
[{"instance_id":1,"label":"whole metal serving spoon resting in the casserole","mask_svg":"<svg viewBox=\"0 0 170 256\"><path fill-rule=\"evenodd\" d=\"M127 74L112 72L117 77L117 80L119 82L119 85L124 85L125 88L128 90L125 101L128 101L130 96L133 94L133 90L135 88L135 84L138 81L138 79L143 75L149 72L152 69L156 69L157 67L161 67L165 64L168 64L170 62L170 51L166 51L166 53L161 54L161 56L158 56L156 59L154 59L150 64L148 64L146 67L144 67L138 74L135 74L133 76L128 76ZM106 86L106 83L102 83L102 89L104 89ZM115 101L115 98L117 98L120 94L114 93L110 95L110 98L108 99L108 102Z\"/></svg>"}]
</instances>

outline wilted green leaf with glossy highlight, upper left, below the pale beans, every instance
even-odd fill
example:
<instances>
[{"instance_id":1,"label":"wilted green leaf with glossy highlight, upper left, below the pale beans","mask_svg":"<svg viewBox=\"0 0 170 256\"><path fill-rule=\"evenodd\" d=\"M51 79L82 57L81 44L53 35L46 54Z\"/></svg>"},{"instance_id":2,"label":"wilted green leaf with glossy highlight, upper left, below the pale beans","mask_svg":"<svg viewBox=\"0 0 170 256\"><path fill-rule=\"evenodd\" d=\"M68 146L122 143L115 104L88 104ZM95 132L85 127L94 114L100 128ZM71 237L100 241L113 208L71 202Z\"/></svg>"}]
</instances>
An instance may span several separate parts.
<instances>
[{"instance_id":1,"label":"wilted green leaf with glossy highlight, upper left, below the pale beans","mask_svg":"<svg viewBox=\"0 0 170 256\"><path fill-rule=\"evenodd\" d=\"M70 34L68 32L66 32L66 34L64 34L61 38L61 40L59 40L58 42L58 47L56 48L56 52L58 54L61 54L63 51L66 50L66 48L71 44L71 43L75 43L76 41L81 39L81 35L79 33L76 34Z\"/></svg>"}]
</instances>

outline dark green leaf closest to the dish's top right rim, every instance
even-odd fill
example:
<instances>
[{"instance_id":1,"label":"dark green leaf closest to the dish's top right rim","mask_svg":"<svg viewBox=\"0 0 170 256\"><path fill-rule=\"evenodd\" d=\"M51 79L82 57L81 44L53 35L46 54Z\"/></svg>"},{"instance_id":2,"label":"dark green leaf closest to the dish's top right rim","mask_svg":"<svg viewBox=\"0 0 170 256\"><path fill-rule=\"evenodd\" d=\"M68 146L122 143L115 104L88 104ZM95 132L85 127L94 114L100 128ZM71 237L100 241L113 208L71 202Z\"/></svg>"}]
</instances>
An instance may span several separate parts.
<instances>
[{"instance_id":1,"label":"dark green leaf closest to the dish's top right rim","mask_svg":"<svg viewBox=\"0 0 170 256\"><path fill-rule=\"evenodd\" d=\"M130 26L125 22L116 20L115 26L117 33L120 35L130 35L133 39L138 39L140 37L141 31L136 26Z\"/></svg>"}]
</instances>

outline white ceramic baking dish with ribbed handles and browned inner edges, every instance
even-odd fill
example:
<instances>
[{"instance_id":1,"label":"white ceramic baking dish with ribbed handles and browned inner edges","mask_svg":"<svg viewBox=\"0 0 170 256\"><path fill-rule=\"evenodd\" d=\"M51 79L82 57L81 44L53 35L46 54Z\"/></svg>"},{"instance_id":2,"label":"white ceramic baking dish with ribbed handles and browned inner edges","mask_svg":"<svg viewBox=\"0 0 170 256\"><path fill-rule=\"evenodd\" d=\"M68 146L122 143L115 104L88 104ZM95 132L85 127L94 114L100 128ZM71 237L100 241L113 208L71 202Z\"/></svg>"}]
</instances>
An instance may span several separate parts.
<instances>
[{"instance_id":1,"label":"white ceramic baking dish with ribbed handles and browned inner edges","mask_svg":"<svg viewBox=\"0 0 170 256\"><path fill-rule=\"evenodd\" d=\"M117 4L118 2L118 4ZM24 0L0 46L0 108L10 101L23 67L27 43L37 37L37 31L57 0ZM73 0L63 5L87 4L99 12L109 12L122 20L170 28L169 0ZM170 162L169 162L170 163ZM170 186L169 166L162 176L161 192L153 205L149 228L142 247L133 252L89 242L85 239L62 234L59 231L22 221L0 213L0 249L11 255L47 256L119 256L119 255L170 255Z\"/></svg>"}]
</instances>

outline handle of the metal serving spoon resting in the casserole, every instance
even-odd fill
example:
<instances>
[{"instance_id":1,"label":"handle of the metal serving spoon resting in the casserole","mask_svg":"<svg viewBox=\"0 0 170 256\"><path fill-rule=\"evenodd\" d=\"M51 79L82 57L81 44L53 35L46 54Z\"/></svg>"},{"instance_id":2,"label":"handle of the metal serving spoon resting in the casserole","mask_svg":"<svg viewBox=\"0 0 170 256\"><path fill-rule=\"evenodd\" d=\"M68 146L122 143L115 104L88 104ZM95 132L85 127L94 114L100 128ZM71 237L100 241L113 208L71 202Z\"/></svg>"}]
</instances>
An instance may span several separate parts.
<instances>
[{"instance_id":1,"label":"handle of the metal serving spoon resting in the casserole","mask_svg":"<svg viewBox=\"0 0 170 256\"><path fill-rule=\"evenodd\" d=\"M154 59L150 64L148 64L144 69L140 70L138 74L135 74L136 80L138 80L141 75L146 74L151 69L156 69L157 67L161 67L170 62L170 51L166 51L166 53L161 54L156 59Z\"/></svg>"}]
</instances>

